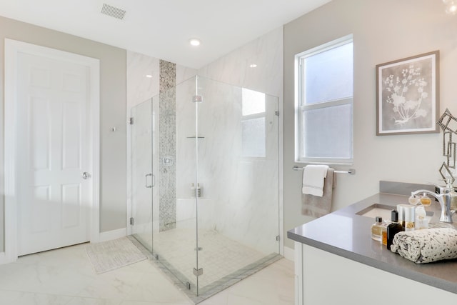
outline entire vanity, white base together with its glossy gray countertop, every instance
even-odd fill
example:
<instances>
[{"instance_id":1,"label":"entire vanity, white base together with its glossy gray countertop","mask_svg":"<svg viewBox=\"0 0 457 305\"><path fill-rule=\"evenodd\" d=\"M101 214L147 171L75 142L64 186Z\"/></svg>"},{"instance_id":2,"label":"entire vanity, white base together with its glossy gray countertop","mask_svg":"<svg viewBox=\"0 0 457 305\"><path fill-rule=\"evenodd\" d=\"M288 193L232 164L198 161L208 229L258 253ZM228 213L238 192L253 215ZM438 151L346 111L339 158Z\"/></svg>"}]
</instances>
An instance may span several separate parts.
<instances>
[{"instance_id":1,"label":"entire vanity, white base together with its glossy gray countertop","mask_svg":"<svg viewBox=\"0 0 457 305\"><path fill-rule=\"evenodd\" d=\"M457 259L416 264L371 239L374 219L360 211L374 203L395 209L408 196L379 193L288 231L295 304L457 304ZM439 218L438 204L427 209Z\"/></svg>"}]
</instances>

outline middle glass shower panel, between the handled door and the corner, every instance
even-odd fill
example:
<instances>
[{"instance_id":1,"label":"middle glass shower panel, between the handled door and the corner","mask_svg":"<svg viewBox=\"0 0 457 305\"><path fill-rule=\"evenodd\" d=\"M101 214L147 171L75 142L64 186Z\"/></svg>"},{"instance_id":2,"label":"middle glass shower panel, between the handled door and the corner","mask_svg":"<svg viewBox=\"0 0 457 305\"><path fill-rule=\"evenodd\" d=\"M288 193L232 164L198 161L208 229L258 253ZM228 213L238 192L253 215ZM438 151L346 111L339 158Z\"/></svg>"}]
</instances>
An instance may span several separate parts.
<instances>
[{"instance_id":1,"label":"middle glass shower panel, between the handled door and the corner","mask_svg":"<svg viewBox=\"0 0 457 305\"><path fill-rule=\"evenodd\" d=\"M154 230L154 251L159 262L197 294L196 198L191 186L196 181L196 118L192 97L195 79L161 92L159 139L159 179L161 226ZM174 99L174 101L170 101ZM170 104L176 102L174 109ZM168 158L169 161L166 161ZM171 161L170 161L171 160ZM167 219L166 221L164 221Z\"/></svg>"}]
</instances>

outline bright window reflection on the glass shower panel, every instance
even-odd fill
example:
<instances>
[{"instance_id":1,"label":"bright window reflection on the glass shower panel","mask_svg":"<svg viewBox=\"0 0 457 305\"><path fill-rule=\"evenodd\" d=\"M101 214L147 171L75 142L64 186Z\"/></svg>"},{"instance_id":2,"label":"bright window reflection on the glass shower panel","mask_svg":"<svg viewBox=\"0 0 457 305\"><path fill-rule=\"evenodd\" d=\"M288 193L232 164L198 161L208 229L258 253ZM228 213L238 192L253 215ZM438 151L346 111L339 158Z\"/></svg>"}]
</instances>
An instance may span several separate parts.
<instances>
[{"instance_id":1,"label":"bright window reflection on the glass shower panel","mask_svg":"<svg viewBox=\"0 0 457 305\"><path fill-rule=\"evenodd\" d=\"M244 157L266 156L265 94L242 89L241 140Z\"/></svg>"}]
</instances>

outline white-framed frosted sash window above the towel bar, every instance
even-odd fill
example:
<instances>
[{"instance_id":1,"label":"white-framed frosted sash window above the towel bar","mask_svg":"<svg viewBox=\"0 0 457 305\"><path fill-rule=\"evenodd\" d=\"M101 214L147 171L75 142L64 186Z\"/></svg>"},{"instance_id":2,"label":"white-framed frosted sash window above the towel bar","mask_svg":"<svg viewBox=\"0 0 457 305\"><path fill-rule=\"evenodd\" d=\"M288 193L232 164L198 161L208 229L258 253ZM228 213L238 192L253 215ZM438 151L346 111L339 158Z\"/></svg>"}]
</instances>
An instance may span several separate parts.
<instances>
[{"instance_id":1,"label":"white-framed frosted sash window above the towel bar","mask_svg":"<svg viewBox=\"0 0 457 305\"><path fill-rule=\"evenodd\" d=\"M296 161L352 162L352 35L296 55L296 129Z\"/></svg>"}]
</instances>

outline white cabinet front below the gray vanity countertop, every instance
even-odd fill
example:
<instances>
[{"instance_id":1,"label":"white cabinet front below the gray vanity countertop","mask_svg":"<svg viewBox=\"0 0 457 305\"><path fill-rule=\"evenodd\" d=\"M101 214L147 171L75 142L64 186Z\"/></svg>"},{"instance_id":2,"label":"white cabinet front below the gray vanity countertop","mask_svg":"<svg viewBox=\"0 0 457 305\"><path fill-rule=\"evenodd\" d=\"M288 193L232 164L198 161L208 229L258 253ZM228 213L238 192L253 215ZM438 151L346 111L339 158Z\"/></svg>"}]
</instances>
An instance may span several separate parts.
<instances>
[{"instance_id":1,"label":"white cabinet front below the gray vanity countertop","mask_svg":"<svg viewBox=\"0 0 457 305\"><path fill-rule=\"evenodd\" d=\"M457 304L452 292L297 241L295 285L296 305Z\"/></svg>"}]
</instances>

